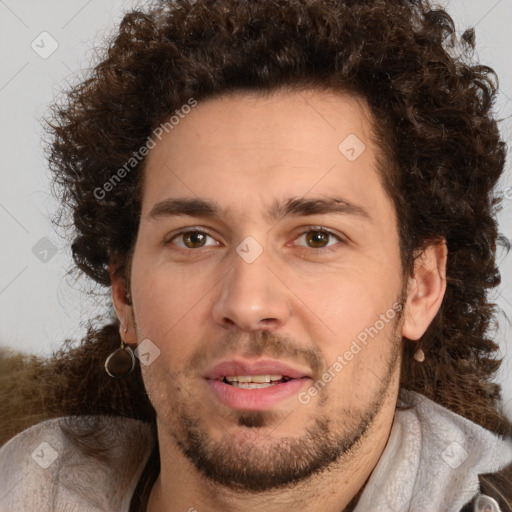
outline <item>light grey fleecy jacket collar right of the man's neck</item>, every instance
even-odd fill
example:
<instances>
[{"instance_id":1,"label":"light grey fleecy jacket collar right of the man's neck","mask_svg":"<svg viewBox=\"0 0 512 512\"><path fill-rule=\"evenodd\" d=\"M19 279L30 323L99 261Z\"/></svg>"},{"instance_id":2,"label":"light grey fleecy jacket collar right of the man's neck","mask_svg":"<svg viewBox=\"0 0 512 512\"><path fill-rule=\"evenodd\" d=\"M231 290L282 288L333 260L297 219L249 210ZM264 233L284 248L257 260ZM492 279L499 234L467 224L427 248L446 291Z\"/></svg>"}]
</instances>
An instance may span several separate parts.
<instances>
[{"instance_id":1,"label":"light grey fleecy jacket collar right of the man's neck","mask_svg":"<svg viewBox=\"0 0 512 512\"><path fill-rule=\"evenodd\" d=\"M459 512L479 492L479 474L512 462L512 442L412 391L401 391L384 452L356 507Z\"/></svg>"}]
</instances>

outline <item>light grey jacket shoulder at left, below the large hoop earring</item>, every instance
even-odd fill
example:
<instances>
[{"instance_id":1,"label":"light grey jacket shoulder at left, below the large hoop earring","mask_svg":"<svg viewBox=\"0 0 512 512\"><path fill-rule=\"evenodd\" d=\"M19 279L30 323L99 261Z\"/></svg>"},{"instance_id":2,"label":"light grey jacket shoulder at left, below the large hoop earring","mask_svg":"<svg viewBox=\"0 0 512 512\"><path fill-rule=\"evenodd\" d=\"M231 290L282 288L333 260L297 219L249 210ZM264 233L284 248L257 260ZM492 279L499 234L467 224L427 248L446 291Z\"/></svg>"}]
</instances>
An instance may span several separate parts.
<instances>
[{"instance_id":1,"label":"light grey jacket shoulder at left, below the large hoop earring","mask_svg":"<svg viewBox=\"0 0 512 512\"><path fill-rule=\"evenodd\" d=\"M151 425L109 416L62 417L0 449L3 512L128 510L155 443Z\"/></svg>"}]
</instances>

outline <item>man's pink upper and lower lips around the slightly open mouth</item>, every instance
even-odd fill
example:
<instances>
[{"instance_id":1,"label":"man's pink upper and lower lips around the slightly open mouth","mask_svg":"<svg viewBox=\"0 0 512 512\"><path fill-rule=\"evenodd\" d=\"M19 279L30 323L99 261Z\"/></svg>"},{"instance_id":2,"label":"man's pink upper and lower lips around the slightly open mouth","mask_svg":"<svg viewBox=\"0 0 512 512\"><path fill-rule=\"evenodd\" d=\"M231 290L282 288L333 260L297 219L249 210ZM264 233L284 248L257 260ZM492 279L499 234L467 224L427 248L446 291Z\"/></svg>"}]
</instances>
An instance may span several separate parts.
<instances>
[{"instance_id":1,"label":"man's pink upper and lower lips around the slightly open mouth","mask_svg":"<svg viewBox=\"0 0 512 512\"><path fill-rule=\"evenodd\" d=\"M283 375L291 380L259 389L237 388L221 380L225 376L233 375ZM279 361L234 359L214 366L205 379L213 395L226 407L244 411L264 411L297 395L311 377L308 372Z\"/></svg>"}]
</instances>

